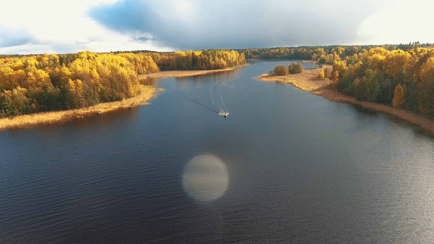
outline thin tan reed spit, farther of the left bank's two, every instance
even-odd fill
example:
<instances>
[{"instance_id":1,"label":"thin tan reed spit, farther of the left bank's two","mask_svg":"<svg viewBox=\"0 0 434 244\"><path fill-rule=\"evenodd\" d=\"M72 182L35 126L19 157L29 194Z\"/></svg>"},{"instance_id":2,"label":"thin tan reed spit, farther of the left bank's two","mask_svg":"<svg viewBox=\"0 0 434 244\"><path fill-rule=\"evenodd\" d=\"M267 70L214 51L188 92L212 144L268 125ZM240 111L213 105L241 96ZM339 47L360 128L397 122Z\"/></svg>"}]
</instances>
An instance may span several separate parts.
<instances>
[{"instance_id":1,"label":"thin tan reed spit, farther of the left bank's two","mask_svg":"<svg viewBox=\"0 0 434 244\"><path fill-rule=\"evenodd\" d=\"M250 65L250 63L243 63L237 66L228 67L226 69L207 69L207 70L168 70L168 71L160 71L157 73L150 73L144 75L138 75L138 79L148 79L148 78L161 78L161 77L185 77L185 76L199 76L210 73L217 73L222 71L229 71L238 68L244 68Z\"/></svg>"}]
</instances>

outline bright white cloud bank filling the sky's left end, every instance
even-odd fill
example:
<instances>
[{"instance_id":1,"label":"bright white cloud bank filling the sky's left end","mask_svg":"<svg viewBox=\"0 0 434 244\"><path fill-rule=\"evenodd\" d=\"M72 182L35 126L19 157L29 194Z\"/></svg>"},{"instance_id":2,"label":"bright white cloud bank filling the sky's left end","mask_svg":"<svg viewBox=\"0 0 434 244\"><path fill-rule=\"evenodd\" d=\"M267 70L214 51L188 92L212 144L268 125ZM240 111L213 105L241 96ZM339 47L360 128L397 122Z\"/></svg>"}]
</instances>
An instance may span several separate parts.
<instances>
[{"instance_id":1,"label":"bright white cloud bank filling the sky's left end","mask_svg":"<svg viewBox=\"0 0 434 244\"><path fill-rule=\"evenodd\" d=\"M0 33L3 36L0 37L0 53L170 49L155 41L137 39L140 36L150 37L147 33L121 34L101 26L87 15L90 7L113 2L115 0L29 0L2 3L5 11L0 14ZM24 40L26 43L22 43ZM16 43L17 46L10 43Z\"/></svg>"}]
</instances>

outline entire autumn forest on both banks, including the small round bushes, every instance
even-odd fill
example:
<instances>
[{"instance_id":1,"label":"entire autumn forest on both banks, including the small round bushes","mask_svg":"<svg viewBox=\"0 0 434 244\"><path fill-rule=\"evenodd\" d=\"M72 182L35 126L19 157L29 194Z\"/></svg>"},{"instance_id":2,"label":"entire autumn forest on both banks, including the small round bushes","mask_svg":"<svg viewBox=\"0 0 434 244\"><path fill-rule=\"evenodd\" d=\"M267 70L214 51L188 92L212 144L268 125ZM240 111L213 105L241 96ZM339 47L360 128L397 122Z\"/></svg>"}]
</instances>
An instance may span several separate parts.
<instances>
[{"instance_id":1,"label":"entire autumn forest on both banks, including the small round bushes","mask_svg":"<svg viewBox=\"0 0 434 244\"><path fill-rule=\"evenodd\" d=\"M325 67L316 77L330 79L332 87L344 94L434 115L434 47L416 42L162 53L141 50L2 55L0 117L118 101L137 95L138 74L224 69L246 63L246 58L316 60L332 66ZM302 72L297 63L276 68L270 73Z\"/></svg>"}]
</instances>

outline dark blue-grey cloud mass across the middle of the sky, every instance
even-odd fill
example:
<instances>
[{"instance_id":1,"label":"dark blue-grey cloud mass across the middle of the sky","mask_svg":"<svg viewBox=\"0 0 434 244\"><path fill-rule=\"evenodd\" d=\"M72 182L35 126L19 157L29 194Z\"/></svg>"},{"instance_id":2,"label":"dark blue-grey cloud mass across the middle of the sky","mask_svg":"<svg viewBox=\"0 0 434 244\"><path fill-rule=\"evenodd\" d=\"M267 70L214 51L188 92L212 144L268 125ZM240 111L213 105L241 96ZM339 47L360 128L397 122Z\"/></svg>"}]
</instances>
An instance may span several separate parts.
<instances>
[{"instance_id":1,"label":"dark blue-grey cloud mass across the middle of the sky","mask_svg":"<svg viewBox=\"0 0 434 244\"><path fill-rule=\"evenodd\" d=\"M362 0L121 0L94 7L89 16L185 50L355 43L357 26L373 12Z\"/></svg>"}]
</instances>

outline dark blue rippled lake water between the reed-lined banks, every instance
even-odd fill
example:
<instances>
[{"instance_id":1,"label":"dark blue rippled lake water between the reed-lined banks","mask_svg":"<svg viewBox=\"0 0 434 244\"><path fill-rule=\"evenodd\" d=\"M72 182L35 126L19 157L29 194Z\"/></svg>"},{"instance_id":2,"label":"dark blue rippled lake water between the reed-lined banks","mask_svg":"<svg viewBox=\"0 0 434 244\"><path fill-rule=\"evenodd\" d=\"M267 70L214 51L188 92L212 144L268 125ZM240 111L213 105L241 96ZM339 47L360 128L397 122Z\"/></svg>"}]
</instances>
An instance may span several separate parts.
<instances>
[{"instance_id":1,"label":"dark blue rippled lake water between the reed-lined banks","mask_svg":"<svg viewBox=\"0 0 434 244\"><path fill-rule=\"evenodd\" d=\"M433 243L433 138L250 63L0 132L0 243Z\"/></svg>"}]
</instances>

